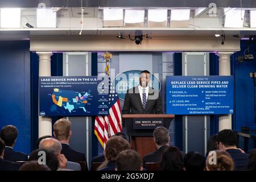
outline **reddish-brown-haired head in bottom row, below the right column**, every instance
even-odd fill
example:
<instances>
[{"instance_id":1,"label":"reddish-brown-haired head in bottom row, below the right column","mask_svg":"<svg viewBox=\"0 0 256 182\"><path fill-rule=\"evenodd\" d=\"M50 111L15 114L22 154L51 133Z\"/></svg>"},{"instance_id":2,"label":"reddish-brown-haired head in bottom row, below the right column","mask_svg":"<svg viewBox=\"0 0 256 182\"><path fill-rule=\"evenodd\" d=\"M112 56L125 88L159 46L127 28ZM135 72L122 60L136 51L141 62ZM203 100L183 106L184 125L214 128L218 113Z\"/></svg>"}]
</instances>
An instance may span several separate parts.
<instances>
[{"instance_id":1,"label":"reddish-brown-haired head in bottom row, below the right column","mask_svg":"<svg viewBox=\"0 0 256 182\"><path fill-rule=\"evenodd\" d=\"M215 161L214 158L216 158ZM233 171L234 162L228 152L224 150L214 150L209 152L206 169L207 171Z\"/></svg>"}]
</instances>

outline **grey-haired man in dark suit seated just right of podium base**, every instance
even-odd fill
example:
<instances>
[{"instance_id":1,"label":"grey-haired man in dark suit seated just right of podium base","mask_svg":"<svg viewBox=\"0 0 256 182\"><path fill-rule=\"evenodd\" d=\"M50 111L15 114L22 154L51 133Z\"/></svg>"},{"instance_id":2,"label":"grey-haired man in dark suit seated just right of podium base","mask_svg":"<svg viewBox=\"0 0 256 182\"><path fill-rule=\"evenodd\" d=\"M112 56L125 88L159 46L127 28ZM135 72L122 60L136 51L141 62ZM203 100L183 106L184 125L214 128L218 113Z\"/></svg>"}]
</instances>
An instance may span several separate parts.
<instances>
[{"instance_id":1,"label":"grey-haired man in dark suit seated just right of podium base","mask_svg":"<svg viewBox=\"0 0 256 182\"><path fill-rule=\"evenodd\" d=\"M151 152L150 154L144 155L143 158L143 167L145 167L145 163L159 163L161 160L161 156L163 151L168 147L170 137L169 131L162 126L156 127L154 132L154 142L157 147L157 150ZM181 152L181 155L184 157L185 153Z\"/></svg>"}]
</instances>

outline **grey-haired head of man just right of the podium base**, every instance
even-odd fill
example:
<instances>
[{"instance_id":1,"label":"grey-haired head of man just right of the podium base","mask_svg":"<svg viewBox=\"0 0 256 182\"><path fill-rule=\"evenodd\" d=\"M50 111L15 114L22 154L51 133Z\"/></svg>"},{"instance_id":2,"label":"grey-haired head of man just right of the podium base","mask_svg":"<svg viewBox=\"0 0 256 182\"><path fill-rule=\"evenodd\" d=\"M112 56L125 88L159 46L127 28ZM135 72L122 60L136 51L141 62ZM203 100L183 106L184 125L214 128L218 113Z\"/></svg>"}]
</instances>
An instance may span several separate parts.
<instances>
[{"instance_id":1,"label":"grey-haired head of man just right of the podium base","mask_svg":"<svg viewBox=\"0 0 256 182\"><path fill-rule=\"evenodd\" d=\"M169 142L169 131L165 127L156 127L153 132L153 136L155 143L159 146L166 145Z\"/></svg>"}]
</instances>

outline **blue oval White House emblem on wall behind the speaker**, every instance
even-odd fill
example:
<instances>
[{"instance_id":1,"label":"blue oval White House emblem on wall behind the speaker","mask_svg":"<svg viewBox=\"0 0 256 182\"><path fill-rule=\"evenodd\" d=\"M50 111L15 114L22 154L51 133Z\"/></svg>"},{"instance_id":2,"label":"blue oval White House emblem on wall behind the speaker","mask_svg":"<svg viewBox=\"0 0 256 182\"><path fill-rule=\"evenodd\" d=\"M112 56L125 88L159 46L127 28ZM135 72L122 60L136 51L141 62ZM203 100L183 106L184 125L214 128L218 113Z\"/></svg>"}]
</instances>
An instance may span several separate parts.
<instances>
[{"instance_id":1,"label":"blue oval White House emblem on wall behind the speaker","mask_svg":"<svg viewBox=\"0 0 256 182\"><path fill-rule=\"evenodd\" d=\"M117 76L115 76L114 78L115 92L118 94L118 97L121 100L125 100L125 94L128 89L131 89L134 86L139 85L140 75L141 75L141 71L133 70L133 71L119 73ZM158 74L154 74L154 73L151 74L150 82L148 83L148 86L156 90L159 90L160 92L161 84L158 78Z\"/></svg>"}]
</instances>

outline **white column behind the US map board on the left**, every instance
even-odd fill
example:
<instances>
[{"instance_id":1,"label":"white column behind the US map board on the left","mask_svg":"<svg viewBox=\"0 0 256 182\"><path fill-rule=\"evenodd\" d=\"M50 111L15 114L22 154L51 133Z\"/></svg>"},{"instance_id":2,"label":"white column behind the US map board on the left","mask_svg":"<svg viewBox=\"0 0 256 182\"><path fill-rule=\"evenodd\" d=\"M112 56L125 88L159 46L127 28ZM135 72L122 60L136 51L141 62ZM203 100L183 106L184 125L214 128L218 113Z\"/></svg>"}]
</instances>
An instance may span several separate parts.
<instances>
[{"instance_id":1,"label":"white column behind the US map board on the left","mask_svg":"<svg viewBox=\"0 0 256 182\"><path fill-rule=\"evenodd\" d=\"M36 52L39 56L39 76L51 76L51 55L52 52ZM45 135L52 135L52 118L42 117L38 118L38 137Z\"/></svg>"}]
</instances>

